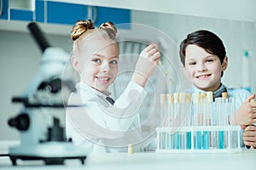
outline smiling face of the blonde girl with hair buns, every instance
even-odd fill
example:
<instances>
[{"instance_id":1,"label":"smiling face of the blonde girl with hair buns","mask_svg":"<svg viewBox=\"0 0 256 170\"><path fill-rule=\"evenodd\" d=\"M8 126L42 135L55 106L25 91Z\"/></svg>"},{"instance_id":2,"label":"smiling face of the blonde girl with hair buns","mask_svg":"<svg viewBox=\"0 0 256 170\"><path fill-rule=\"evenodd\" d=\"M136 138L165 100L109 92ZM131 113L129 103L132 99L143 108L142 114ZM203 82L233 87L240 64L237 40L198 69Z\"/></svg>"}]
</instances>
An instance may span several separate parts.
<instances>
[{"instance_id":1,"label":"smiling face of the blonde girl with hair buns","mask_svg":"<svg viewBox=\"0 0 256 170\"><path fill-rule=\"evenodd\" d=\"M91 39L77 57L80 81L105 92L118 74L119 47L108 39Z\"/></svg>"}]
</instances>

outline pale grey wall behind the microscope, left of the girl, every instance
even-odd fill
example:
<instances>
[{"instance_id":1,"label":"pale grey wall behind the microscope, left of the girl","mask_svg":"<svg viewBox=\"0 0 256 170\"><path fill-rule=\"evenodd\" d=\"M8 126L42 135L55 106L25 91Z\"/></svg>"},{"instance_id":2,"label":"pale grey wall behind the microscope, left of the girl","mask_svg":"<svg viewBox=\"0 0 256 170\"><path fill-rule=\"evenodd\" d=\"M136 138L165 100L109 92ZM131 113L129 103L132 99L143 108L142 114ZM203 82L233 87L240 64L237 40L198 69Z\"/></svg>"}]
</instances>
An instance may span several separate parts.
<instances>
[{"instance_id":1,"label":"pale grey wall behind the microscope, left of the girl","mask_svg":"<svg viewBox=\"0 0 256 170\"><path fill-rule=\"evenodd\" d=\"M70 52L68 36L46 35L52 46ZM19 139L15 128L8 126L8 120L20 111L20 104L13 104L12 97L23 93L38 71L41 49L32 36L26 32L0 31L0 140Z\"/></svg>"}]
</instances>

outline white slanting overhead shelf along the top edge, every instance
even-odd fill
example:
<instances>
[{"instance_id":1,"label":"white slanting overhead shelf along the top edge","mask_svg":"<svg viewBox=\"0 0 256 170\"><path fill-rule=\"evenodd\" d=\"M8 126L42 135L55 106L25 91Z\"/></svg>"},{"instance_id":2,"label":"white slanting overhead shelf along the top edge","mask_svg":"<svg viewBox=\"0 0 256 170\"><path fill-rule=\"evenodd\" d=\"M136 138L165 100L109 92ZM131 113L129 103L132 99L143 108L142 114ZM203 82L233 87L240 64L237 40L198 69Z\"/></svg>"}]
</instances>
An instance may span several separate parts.
<instances>
[{"instance_id":1,"label":"white slanting overhead shelf along the top edge","mask_svg":"<svg viewBox=\"0 0 256 170\"><path fill-rule=\"evenodd\" d=\"M50 1L50 0L49 0ZM51 0L148 12L256 22L254 0Z\"/></svg>"}]
</instances>

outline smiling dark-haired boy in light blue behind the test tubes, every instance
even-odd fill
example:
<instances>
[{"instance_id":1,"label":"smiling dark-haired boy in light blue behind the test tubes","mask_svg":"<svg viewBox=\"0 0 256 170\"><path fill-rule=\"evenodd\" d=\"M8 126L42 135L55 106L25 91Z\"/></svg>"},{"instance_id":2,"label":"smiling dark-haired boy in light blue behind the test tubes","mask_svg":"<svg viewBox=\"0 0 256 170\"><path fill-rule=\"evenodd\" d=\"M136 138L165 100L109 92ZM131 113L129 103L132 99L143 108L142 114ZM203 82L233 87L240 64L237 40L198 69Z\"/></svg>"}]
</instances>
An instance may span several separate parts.
<instances>
[{"instance_id":1,"label":"smiling dark-haired boy in light blue behind the test tubes","mask_svg":"<svg viewBox=\"0 0 256 170\"><path fill-rule=\"evenodd\" d=\"M236 120L234 124L244 129L243 141L248 146L256 147L256 102L250 102L255 94L250 95L242 88L227 88L221 83L221 77L228 65L224 43L211 31L190 33L180 44L180 59L183 71L193 88L189 93L213 92L213 98L227 92L236 101Z\"/></svg>"}]
</instances>

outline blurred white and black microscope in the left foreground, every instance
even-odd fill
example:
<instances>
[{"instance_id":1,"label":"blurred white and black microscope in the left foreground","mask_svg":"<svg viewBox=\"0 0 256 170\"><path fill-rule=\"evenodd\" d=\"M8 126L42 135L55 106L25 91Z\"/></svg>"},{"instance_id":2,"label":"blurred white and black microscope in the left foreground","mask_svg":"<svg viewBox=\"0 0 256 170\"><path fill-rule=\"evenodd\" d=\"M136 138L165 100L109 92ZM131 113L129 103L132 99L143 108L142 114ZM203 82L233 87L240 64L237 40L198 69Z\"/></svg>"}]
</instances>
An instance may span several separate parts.
<instances>
[{"instance_id":1,"label":"blurred white and black microscope in the left foreground","mask_svg":"<svg viewBox=\"0 0 256 170\"><path fill-rule=\"evenodd\" d=\"M74 90L72 78L64 78L69 55L51 47L36 22L28 24L32 37L42 49L40 68L24 94L14 97L22 104L18 116L9 119L9 126L20 132L20 145L9 148L13 165L16 160L43 160L46 165L64 164L66 159L86 159L85 151L65 137L65 99L63 91Z\"/></svg>"}]
</instances>

